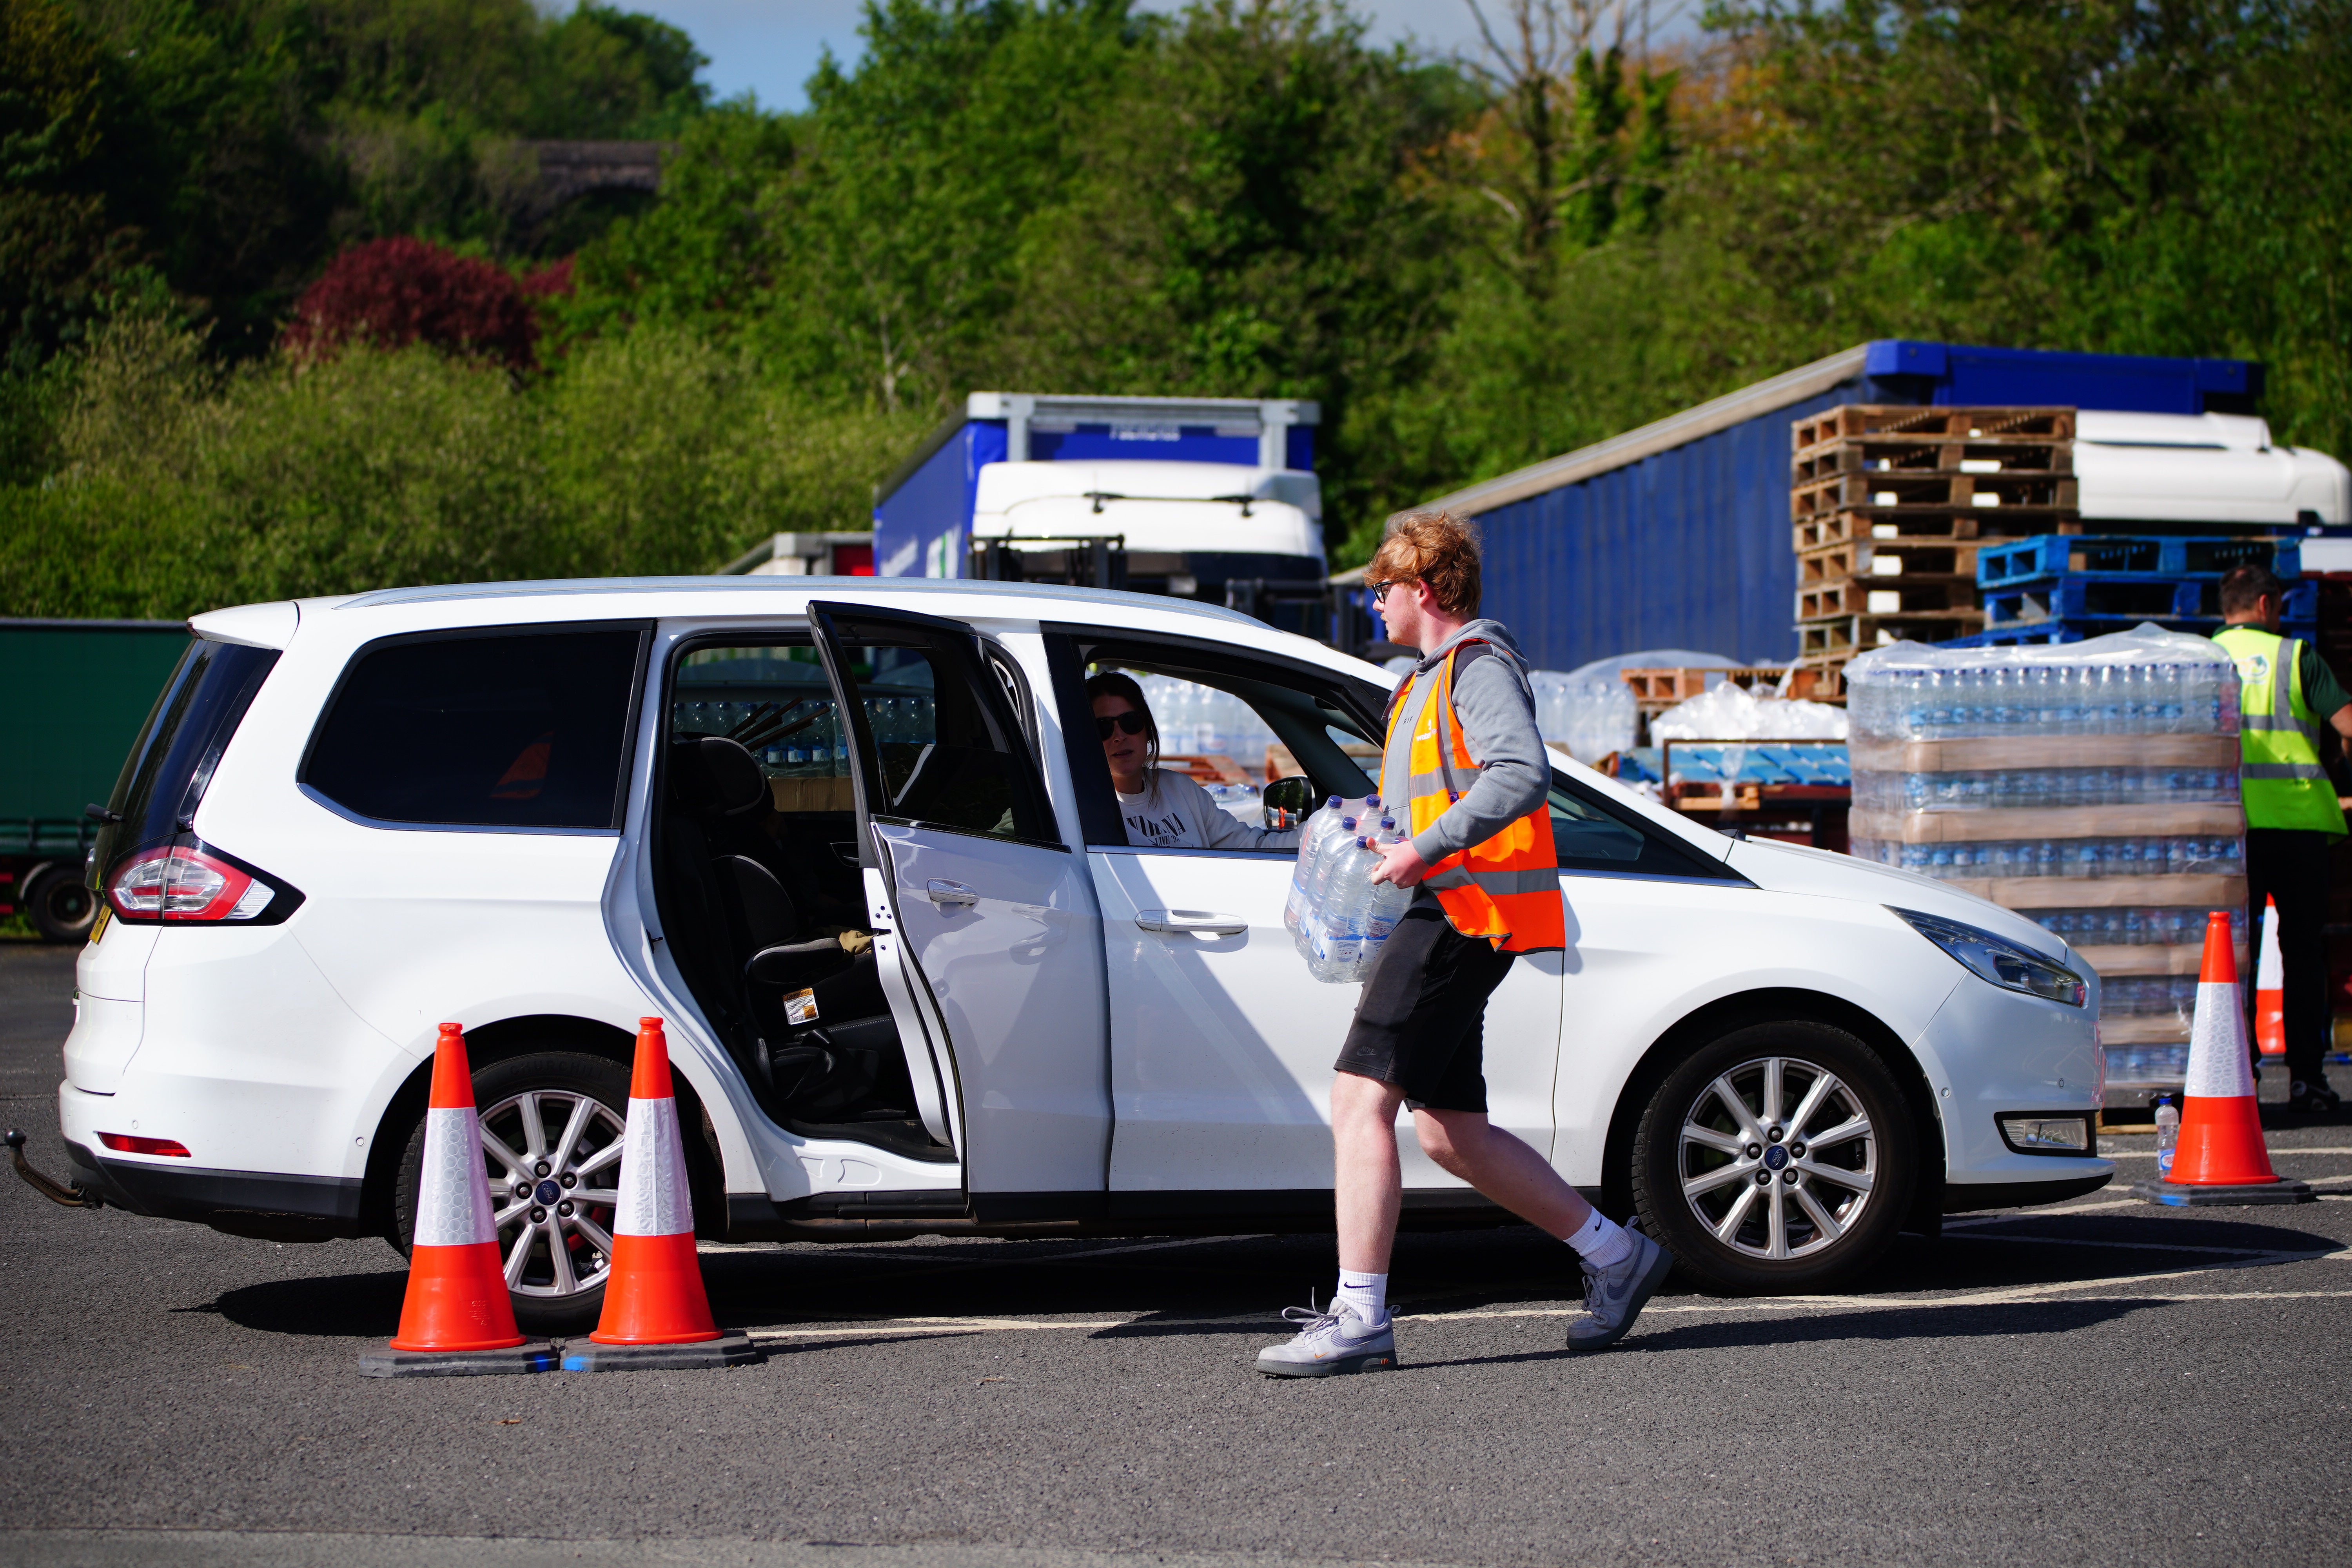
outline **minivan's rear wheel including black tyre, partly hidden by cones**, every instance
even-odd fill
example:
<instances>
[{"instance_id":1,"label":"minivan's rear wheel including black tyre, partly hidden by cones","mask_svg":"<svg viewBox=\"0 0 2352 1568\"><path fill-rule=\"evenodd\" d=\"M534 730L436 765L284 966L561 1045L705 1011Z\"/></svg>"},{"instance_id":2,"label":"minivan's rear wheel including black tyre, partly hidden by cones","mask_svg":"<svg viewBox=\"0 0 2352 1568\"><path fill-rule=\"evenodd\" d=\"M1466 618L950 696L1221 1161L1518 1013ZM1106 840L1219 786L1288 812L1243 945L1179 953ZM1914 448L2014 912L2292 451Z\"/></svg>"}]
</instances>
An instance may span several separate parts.
<instances>
[{"instance_id":1,"label":"minivan's rear wheel including black tyre, partly hidden by cones","mask_svg":"<svg viewBox=\"0 0 2352 1568\"><path fill-rule=\"evenodd\" d=\"M612 1199L621 1185L619 1152L628 1126L628 1067L583 1051L510 1056L475 1070L473 1103L485 1131L482 1171L499 1220L499 1255L508 1262L515 1324L524 1333L588 1333L604 1312ZM539 1147L529 1147L534 1119ZM579 1128L572 1128L574 1119ZM567 1131L574 1131L569 1145ZM494 1152L492 1140L506 1152ZM393 1187L402 1253L416 1237L423 1152L426 1126L419 1117ZM517 1260L515 1246L524 1232L532 1241Z\"/></svg>"}]
</instances>

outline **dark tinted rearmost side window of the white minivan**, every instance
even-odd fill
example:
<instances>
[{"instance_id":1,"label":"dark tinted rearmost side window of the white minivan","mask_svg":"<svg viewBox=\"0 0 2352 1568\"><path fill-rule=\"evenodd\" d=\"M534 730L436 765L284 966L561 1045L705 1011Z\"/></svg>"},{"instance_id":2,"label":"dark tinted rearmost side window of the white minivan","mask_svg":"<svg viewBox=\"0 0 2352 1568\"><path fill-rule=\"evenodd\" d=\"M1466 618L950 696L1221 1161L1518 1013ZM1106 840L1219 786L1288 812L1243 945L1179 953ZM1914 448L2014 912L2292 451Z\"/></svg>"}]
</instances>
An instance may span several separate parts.
<instances>
[{"instance_id":1,"label":"dark tinted rearmost side window of the white minivan","mask_svg":"<svg viewBox=\"0 0 2352 1568\"><path fill-rule=\"evenodd\" d=\"M374 642L301 783L379 823L602 830L621 820L642 625Z\"/></svg>"}]
</instances>

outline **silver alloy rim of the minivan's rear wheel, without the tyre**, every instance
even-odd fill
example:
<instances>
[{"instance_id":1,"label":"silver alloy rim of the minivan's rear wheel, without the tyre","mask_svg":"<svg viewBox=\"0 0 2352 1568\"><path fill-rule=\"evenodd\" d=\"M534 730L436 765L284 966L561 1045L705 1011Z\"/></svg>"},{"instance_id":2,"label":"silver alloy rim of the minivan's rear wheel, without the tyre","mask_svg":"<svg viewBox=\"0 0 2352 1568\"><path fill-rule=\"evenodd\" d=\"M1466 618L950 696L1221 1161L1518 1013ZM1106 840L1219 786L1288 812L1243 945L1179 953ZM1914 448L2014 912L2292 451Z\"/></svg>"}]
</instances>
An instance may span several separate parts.
<instances>
[{"instance_id":1,"label":"silver alloy rim of the minivan's rear wheel, without the tyre","mask_svg":"<svg viewBox=\"0 0 2352 1568\"><path fill-rule=\"evenodd\" d=\"M524 1088L482 1107L508 1291L562 1300L604 1284L623 1133L609 1105L567 1088Z\"/></svg>"}]
</instances>

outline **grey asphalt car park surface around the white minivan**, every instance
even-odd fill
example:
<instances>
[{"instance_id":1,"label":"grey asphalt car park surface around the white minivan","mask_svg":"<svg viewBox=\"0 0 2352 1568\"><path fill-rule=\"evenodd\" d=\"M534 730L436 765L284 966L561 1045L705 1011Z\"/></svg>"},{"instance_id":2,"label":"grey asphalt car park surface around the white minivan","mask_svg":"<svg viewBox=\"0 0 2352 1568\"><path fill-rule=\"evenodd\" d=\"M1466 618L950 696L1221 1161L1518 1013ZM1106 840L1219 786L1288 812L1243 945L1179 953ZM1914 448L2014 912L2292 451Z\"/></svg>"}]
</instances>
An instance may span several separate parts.
<instances>
[{"instance_id":1,"label":"grey asphalt car park surface around the white minivan","mask_svg":"<svg viewBox=\"0 0 2352 1568\"><path fill-rule=\"evenodd\" d=\"M52 1173L71 983L0 947L0 1119ZM0 1563L2343 1563L2352 1121L2272 1133L2296 1208L2138 1204L2150 1140L2107 1145L2107 1192L1837 1298L1670 1284L1583 1359L1566 1248L1406 1237L1404 1366L1315 1382L1249 1359L1317 1237L708 1248L757 1366L365 1380L381 1241L5 1178Z\"/></svg>"}]
</instances>

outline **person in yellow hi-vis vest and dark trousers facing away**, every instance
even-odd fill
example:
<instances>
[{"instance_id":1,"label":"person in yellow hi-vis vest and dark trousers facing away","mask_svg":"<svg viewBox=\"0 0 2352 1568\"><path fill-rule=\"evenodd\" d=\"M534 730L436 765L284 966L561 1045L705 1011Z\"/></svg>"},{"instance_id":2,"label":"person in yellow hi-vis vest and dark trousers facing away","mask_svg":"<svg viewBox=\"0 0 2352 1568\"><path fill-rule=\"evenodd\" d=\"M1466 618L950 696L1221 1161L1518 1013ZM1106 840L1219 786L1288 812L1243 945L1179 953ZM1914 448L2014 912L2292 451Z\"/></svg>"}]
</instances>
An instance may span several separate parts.
<instances>
[{"instance_id":1,"label":"person in yellow hi-vis vest and dark trousers facing away","mask_svg":"<svg viewBox=\"0 0 2352 1568\"><path fill-rule=\"evenodd\" d=\"M2220 581L2227 625L2213 642L2237 661L2239 792L2246 802L2246 936L2263 936L2263 900L2279 905L2286 1023L2286 1107L2333 1112L2328 1088L2328 844L2345 837L2343 799L2319 764L2319 726L2352 736L2352 696L2319 651L2279 635L2286 592L2263 567ZM2251 1032L2249 1032L2251 1039Z\"/></svg>"}]
</instances>

